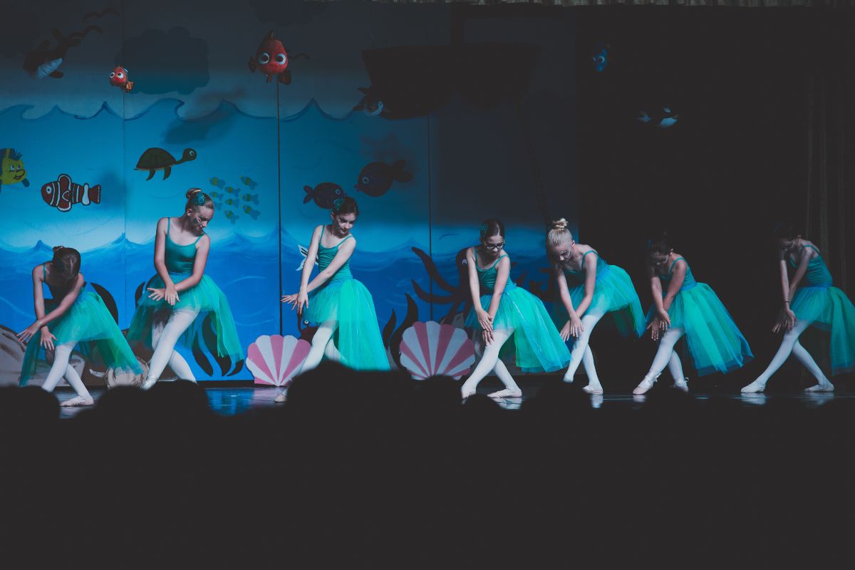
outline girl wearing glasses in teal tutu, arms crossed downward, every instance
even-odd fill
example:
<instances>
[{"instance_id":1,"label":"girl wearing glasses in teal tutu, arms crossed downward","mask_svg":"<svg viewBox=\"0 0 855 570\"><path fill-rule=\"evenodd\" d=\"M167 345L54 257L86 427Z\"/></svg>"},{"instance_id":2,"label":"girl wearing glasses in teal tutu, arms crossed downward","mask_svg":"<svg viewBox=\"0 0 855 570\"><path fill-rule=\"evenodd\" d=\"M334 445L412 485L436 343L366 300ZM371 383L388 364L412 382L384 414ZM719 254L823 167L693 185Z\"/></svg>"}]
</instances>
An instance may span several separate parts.
<instances>
[{"instance_id":1,"label":"girl wearing glasses in teal tutu, arms crossed downward","mask_svg":"<svg viewBox=\"0 0 855 570\"><path fill-rule=\"evenodd\" d=\"M481 361L463 383L463 397L487 373L496 373L504 390L490 397L521 397L522 391L501 357L515 356L525 372L551 372L567 366L570 353L539 298L510 281L510 257L504 252L504 224L484 220L481 244L466 252L472 310L466 326L476 331L475 351ZM484 294L481 295L481 292Z\"/></svg>"}]
</instances>

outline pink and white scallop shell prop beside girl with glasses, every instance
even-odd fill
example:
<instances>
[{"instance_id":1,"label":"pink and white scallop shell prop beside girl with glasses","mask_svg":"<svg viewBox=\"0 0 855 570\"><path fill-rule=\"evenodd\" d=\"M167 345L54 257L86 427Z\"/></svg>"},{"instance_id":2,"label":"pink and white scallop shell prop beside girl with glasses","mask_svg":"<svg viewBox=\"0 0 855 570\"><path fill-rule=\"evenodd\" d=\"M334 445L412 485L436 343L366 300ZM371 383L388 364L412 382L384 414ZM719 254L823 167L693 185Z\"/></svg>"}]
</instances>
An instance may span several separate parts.
<instances>
[{"instance_id":1,"label":"pink and white scallop shell prop beside girl with glasses","mask_svg":"<svg viewBox=\"0 0 855 570\"><path fill-rule=\"evenodd\" d=\"M438 322L417 322L401 339L401 365L413 378L443 374L460 379L475 363L475 343L463 329Z\"/></svg>"}]
</instances>

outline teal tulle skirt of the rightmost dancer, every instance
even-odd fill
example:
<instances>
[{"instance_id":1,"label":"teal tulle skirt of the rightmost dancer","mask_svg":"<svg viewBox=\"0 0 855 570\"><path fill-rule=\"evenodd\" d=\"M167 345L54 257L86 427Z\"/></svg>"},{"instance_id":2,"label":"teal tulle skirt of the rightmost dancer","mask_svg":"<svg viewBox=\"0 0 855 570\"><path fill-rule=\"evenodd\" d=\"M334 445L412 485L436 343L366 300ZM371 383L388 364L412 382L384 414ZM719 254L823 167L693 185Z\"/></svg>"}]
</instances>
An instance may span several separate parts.
<instances>
[{"instance_id":1,"label":"teal tulle skirt of the rightmost dancer","mask_svg":"<svg viewBox=\"0 0 855 570\"><path fill-rule=\"evenodd\" d=\"M811 348L817 346L828 353L832 374L855 370L855 307L846 293L831 286L800 287L790 309L796 319L806 320L811 327L828 335L811 342L811 330L806 332Z\"/></svg>"}]
</instances>

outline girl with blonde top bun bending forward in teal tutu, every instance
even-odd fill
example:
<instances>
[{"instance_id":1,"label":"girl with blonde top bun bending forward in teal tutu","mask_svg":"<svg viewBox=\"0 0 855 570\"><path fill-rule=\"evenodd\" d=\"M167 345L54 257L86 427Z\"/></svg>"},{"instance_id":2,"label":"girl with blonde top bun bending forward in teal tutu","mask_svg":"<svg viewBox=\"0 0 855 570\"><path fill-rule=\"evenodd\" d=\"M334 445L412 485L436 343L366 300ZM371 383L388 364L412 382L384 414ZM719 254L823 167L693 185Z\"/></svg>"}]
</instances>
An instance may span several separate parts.
<instances>
[{"instance_id":1,"label":"girl with blonde top bun bending forward in teal tutu","mask_svg":"<svg viewBox=\"0 0 855 570\"><path fill-rule=\"evenodd\" d=\"M640 337L644 332L644 312L632 279L622 268L609 265L590 245L577 244L567 229L567 220L553 221L546 234L546 253L554 261L561 309L552 319L564 341L575 338L564 381L572 382L580 364L585 366L588 394L602 394L603 385L588 347L593 327L611 314L623 336Z\"/></svg>"}]
</instances>

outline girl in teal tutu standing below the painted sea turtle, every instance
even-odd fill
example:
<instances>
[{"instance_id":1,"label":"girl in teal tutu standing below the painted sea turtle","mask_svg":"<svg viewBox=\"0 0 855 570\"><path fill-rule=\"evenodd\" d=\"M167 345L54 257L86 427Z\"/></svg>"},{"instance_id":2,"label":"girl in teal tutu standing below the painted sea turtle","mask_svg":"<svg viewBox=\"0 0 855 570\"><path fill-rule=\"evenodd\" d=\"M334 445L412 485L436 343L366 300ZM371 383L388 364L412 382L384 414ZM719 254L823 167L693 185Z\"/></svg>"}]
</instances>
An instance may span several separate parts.
<instances>
[{"instance_id":1,"label":"girl in teal tutu standing below the painted sea turtle","mask_svg":"<svg viewBox=\"0 0 855 570\"><path fill-rule=\"evenodd\" d=\"M192 347L205 316L210 316L217 355L232 361L244 358L232 309L226 296L208 275L211 240L204 232L214 217L214 203L198 188L186 193L184 214L161 218L155 233L156 275L146 285L148 297L139 301L127 332L128 342L154 350L143 383L148 390L168 364L180 379L196 381L190 365L178 352L179 341Z\"/></svg>"}]
</instances>

